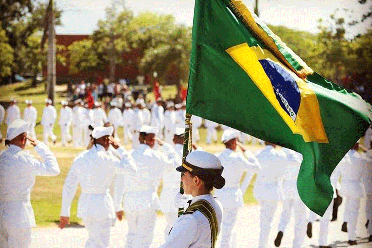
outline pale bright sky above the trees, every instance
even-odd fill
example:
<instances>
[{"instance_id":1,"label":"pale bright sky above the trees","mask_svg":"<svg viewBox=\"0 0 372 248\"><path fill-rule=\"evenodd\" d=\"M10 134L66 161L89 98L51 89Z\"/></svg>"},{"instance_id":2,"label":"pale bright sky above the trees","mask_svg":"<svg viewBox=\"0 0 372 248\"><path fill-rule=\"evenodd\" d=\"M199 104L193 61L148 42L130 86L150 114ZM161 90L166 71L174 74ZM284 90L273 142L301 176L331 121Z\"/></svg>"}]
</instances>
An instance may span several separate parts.
<instances>
[{"instance_id":1,"label":"pale bright sky above the trees","mask_svg":"<svg viewBox=\"0 0 372 248\"><path fill-rule=\"evenodd\" d=\"M48 0L38 0L47 2ZM249 10L253 9L254 0L242 0ZM194 0L56 0L56 5L63 10L62 27L56 27L57 34L91 34L97 27L97 21L105 19L105 8L116 6L126 8L135 15L141 12L172 14L176 22L192 26ZM371 4L370 4L371 5ZM328 19L337 8L347 8L353 12L339 11L336 16L360 19L370 5L361 5L358 0L259 0L260 18L271 25L283 25L288 28L317 33L318 20ZM348 36L363 33L371 28L371 21L350 29Z\"/></svg>"}]
</instances>

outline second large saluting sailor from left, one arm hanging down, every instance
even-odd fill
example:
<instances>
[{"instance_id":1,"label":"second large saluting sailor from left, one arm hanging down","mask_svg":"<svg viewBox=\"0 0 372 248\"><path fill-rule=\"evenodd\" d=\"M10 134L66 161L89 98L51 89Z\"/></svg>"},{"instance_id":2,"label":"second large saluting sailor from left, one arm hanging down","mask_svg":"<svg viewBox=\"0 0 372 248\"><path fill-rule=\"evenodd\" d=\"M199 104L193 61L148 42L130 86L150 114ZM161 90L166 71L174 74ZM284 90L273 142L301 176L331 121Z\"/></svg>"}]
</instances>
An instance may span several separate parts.
<instances>
[{"instance_id":1,"label":"second large saluting sailor from left, one arm hanging down","mask_svg":"<svg viewBox=\"0 0 372 248\"><path fill-rule=\"evenodd\" d=\"M77 216L83 219L88 231L85 248L109 247L110 227L115 218L109 186L116 174L129 174L137 170L125 148L110 138L112 132L113 127L93 129L93 146L75 158L63 186L60 228L69 223L71 202L77 186L81 186ZM110 144L120 159L108 150Z\"/></svg>"}]
</instances>

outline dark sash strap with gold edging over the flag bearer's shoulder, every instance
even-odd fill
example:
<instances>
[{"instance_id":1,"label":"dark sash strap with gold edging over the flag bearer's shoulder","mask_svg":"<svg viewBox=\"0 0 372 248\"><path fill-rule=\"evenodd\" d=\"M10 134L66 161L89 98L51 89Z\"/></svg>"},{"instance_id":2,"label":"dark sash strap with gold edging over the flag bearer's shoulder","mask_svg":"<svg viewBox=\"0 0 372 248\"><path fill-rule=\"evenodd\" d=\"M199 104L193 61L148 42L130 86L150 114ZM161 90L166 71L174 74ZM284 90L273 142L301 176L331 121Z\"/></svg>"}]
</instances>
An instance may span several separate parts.
<instances>
[{"instance_id":1,"label":"dark sash strap with gold edging over the flag bearer's shoulder","mask_svg":"<svg viewBox=\"0 0 372 248\"><path fill-rule=\"evenodd\" d=\"M212 242L211 248L214 248L218 234L218 222L216 212L214 211L212 205L208 201L201 199L192 203L191 206L189 206L183 214L192 214L196 211L200 211L205 217L207 217L209 221Z\"/></svg>"}]
</instances>

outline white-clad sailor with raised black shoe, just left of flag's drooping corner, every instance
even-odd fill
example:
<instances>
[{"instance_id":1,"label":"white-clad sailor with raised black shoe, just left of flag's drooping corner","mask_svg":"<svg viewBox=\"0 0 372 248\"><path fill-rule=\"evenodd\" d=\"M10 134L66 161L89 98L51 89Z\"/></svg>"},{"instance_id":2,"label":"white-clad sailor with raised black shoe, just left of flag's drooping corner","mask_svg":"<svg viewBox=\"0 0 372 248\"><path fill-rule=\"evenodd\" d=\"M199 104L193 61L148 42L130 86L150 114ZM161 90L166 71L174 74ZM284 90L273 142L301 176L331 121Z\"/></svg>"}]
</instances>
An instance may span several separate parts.
<instances>
[{"instance_id":1,"label":"white-clad sailor with raised black shoe, just left of flag's drooping corner","mask_svg":"<svg viewBox=\"0 0 372 248\"><path fill-rule=\"evenodd\" d=\"M306 233L306 219L304 218L306 216L306 205L300 199L296 185L297 176L302 162L302 155L284 147L282 148L282 151L287 155L283 183L284 200L283 211L280 215L280 221L278 224L278 234L274 244L276 247L280 246L284 230L288 225L293 209L295 214L295 238L293 239L292 248L301 248Z\"/></svg>"}]
</instances>

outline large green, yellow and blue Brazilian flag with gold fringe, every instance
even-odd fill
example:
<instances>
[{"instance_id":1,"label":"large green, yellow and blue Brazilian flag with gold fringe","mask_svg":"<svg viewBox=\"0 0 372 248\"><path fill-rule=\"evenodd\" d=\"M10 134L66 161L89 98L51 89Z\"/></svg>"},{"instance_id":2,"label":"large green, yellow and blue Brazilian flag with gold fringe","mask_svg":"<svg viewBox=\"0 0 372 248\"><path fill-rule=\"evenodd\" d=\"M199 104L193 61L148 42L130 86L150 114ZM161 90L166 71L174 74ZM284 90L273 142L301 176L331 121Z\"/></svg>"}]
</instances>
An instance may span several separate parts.
<instances>
[{"instance_id":1,"label":"large green, yellow and blue Brazilian flag with gold fringe","mask_svg":"<svg viewBox=\"0 0 372 248\"><path fill-rule=\"evenodd\" d=\"M314 72L236 0L196 0L186 113L301 153L298 192L319 215L332 171L372 119L371 105Z\"/></svg>"}]
</instances>

